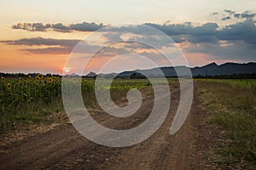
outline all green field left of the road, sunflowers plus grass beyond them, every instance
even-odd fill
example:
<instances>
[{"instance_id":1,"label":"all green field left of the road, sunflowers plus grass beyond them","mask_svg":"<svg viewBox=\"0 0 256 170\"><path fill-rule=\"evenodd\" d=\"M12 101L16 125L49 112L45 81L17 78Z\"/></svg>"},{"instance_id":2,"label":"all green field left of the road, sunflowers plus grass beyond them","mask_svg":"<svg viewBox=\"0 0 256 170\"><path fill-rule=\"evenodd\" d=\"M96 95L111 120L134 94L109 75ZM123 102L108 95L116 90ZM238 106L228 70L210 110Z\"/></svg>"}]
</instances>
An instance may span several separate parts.
<instances>
[{"instance_id":1,"label":"all green field left of the road, sunflowers plus grass beyond them","mask_svg":"<svg viewBox=\"0 0 256 170\"><path fill-rule=\"evenodd\" d=\"M68 77L67 81L75 85L78 78ZM99 106L94 94L93 79L82 79L81 90L87 108ZM150 86L146 79L114 80L111 87L102 86L102 90L111 88L113 101L125 100L126 92L131 88ZM11 130L20 124L36 122L59 122L66 117L61 101L61 77L38 75L37 77L1 77L0 81L0 131ZM55 116L51 116L53 113ZM66 117L67 118L67 117Z\"/></svg>"}]
</instances>

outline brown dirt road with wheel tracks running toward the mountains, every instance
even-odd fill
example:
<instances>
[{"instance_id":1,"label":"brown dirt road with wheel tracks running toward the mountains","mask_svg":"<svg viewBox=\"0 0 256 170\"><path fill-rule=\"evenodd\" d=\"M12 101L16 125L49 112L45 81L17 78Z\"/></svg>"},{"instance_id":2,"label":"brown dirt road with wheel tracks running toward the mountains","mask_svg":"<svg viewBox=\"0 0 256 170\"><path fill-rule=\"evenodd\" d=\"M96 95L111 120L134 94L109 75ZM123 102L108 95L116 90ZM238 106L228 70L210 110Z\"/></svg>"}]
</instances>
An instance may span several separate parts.
<instances>
[{"instance_id":1,"label":"brown dirt road with wheel tracks running toward the mountains","mask_svg":"<svg viewBox=\"0 0 256 170\"><path fill-rule=\"evenodd\" d=\"M172 103L160 129L145 141L124 148L112 148L90 142L72 124L26 135L2 144L0 169L210 169L205 150L208 147L206 114L201 109L195 87L192 109L183 127L170 135L177 111L179 90L172 87ZM131 128L150 114L154 95L144 99L135 116L116 119L96 111L97 122L107 127Z\"/></svg>"}]
</instances>

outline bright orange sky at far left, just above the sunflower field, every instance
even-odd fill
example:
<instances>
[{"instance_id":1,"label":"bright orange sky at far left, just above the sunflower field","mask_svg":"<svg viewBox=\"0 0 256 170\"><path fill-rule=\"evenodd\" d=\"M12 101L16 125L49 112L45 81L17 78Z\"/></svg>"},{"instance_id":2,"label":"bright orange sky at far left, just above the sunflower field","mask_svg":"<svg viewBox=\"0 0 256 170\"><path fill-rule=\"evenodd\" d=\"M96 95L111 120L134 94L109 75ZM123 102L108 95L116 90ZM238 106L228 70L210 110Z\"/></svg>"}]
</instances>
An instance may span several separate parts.
<instances>
[{"instance_id":1,"label":"bright orange sky at far left, just above the sunflower field","mask_svg":"<svg viewBox=\"0 0 256 170\"><path fill-rule=\"evenodd\" d=\"M67 59L65 54L28 54L19 49L16 46L0 46L1 72L61 73Z\"/></svg>"}]
</instances>

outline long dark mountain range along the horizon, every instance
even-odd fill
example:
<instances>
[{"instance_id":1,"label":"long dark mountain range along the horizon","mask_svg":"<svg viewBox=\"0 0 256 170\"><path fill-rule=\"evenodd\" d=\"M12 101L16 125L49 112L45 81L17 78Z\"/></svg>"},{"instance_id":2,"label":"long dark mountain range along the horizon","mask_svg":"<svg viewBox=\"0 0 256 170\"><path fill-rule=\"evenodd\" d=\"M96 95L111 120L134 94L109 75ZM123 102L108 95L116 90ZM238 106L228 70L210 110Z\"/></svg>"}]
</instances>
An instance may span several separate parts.
<instances>
[{"instance_id":1,"label":"long dark mountain range along the horizon","mask_svg":"<svg viewBox=\"0 0 256 170\"><path fill-rule=\"evenodd\" d=\"M146 77L160 77L160 71L164 73L166 77L177 77L177 72L181 73L181 76L187 76L186 72L190 69L192 76L223 76L223 75L234 75L234 74L256 74L256 63L238 64L238 63L225 63L223 65L217 65L211 63L204 66L196 66L189 68L186 66L175 66L175 67L160 67L149 70L135 70L135 71L123 71L111 74L100 74L98 76L110 78L110 77L131 77L133 74L143 73ZM90 72L86 77L96 77L96 73Z\"/></svg>"}]
</instances>

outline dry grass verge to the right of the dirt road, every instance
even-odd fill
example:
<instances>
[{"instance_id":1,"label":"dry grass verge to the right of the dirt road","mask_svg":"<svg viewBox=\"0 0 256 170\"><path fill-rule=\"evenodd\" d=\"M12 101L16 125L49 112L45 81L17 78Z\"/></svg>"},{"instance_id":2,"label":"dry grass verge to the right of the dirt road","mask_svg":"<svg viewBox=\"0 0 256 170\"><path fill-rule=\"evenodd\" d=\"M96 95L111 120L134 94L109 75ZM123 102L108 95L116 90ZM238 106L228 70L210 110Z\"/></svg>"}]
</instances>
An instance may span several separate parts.
<instances>
[{"instance_id":1,"label":"dry grass verge to the right of the dirt road","mask_svg":"<svg viewBox=\"0 0 256 170\"><path fill-rule=\"evenodd\" d=\"M256 168L256 80L197 80L208 122L223 130L218 141L220 166Z\"/></svg>"}]
</instances>

